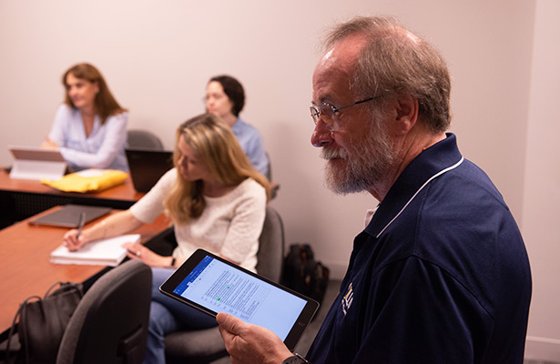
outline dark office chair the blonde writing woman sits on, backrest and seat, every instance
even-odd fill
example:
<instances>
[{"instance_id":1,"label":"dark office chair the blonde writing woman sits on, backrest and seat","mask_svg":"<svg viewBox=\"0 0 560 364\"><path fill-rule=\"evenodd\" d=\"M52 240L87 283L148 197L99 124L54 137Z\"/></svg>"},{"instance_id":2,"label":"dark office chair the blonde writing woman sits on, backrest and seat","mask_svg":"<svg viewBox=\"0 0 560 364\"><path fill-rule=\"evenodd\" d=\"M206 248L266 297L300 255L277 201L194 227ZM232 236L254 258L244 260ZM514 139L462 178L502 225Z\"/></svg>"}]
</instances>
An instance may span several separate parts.
<instances>
[{"instance_id":1,"label":"dark office chair the blonde writing woman sits on, backrest and seat","mask_svg":"<svg viewBox=\"0 0 560 364\"><path fill-rule=\"evenodd\" d=\"M284 227L280 214L267 207L259 238L257 272L275 282L280 281L284 258ZM228 355L219 329L178 331L166 336L168 363L209 363Z\"/></svg>"}]
</instances>

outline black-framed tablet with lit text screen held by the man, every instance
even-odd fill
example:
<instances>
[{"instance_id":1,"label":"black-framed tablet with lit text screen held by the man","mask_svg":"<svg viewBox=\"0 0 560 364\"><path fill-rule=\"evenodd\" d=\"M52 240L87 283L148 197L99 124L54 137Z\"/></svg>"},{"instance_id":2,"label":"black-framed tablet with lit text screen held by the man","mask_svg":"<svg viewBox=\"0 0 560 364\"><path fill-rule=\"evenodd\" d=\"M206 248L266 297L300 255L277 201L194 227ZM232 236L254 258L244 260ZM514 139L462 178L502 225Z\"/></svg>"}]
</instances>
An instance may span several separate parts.
<instances>
[{"instance_id":1,"label":"black-framed tablet with lit text screen held by the man","mask_svg":"<svg viewBox=\"0 0 560 364\"><path fill-rule=\"evenodd\" d=\"M216 317L219 312L270 329L293 350L319 303L199 249L159 288Z\"/></svg>"}]
</instances>

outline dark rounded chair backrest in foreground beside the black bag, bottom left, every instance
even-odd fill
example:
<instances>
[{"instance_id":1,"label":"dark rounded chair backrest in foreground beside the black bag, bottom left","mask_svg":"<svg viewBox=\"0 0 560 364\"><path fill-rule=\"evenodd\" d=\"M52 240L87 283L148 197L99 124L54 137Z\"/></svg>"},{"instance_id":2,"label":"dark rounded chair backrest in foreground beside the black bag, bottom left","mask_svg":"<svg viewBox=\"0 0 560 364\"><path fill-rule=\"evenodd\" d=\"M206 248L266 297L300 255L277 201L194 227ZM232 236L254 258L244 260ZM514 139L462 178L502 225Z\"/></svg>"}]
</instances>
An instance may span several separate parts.
<instances>
[{"instance_id":1,"label":"dark rounded chair backrest in foreground beside the black bag, bottom left","mask_svg":"<svg viewBox=\"0 0 560 364\"><path fill-rule=\"evenodd\" d=\"M146 352L151 269L128 260L89 288L62 338L56 364L141 363Z\"/></svg>"}]
</instances>

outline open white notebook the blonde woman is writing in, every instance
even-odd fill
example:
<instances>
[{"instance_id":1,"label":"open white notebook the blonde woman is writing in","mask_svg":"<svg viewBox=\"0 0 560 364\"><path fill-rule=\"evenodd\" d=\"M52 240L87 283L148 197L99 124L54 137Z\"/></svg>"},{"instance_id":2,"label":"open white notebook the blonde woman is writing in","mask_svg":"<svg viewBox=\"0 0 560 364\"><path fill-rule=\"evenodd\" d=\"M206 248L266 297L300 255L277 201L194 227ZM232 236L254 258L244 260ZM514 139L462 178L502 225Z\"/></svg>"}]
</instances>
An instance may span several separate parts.
<instances>
[{"instance_id":1,"label":"open white notebook the blonde woman is writing in","mask_svg":"<svg viewBox=\"0 0 560 364\"><path fill-rule=\"evenodd\" d=\"M127 256L127 249L122 245L139 239L140 234L106 238L86 244L84 248L77 251L69 251L61 245L51 252L51 263L115 267Z\"/></svg>"}]
</instances>

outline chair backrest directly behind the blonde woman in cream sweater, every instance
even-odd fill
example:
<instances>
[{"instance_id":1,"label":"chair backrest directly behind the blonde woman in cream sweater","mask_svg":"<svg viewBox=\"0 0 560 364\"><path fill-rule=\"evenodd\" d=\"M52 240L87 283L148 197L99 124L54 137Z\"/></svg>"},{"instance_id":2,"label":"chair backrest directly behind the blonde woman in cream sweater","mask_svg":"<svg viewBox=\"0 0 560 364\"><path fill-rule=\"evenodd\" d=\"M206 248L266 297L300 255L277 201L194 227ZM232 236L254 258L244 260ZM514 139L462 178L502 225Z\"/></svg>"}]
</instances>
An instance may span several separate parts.
<instances>
[{"instance_id":1,"label":"chair backrest directly behind the blonde woman in cream sweater","mask_svg":"<svg viewBox=\"0 0 560 364\"><path fill-rule=\"evenodd\" d=\"M257 273L275 282L280 281L284 258L284 225L278 211L267 207L259 238Z\"/></svg>"}]
</instances>

